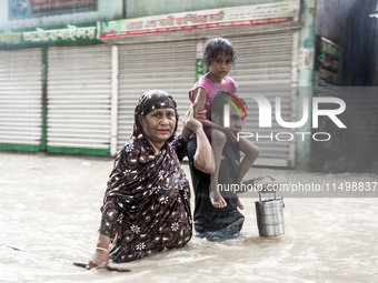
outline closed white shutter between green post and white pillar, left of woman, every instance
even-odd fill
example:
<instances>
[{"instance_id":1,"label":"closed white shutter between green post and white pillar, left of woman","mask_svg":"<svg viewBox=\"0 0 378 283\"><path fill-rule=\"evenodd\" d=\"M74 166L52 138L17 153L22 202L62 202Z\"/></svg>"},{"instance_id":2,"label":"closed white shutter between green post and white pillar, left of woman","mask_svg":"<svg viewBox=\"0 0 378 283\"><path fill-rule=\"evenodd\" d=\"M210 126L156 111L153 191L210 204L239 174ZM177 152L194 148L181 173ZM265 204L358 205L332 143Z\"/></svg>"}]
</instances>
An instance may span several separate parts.
<instances>
[{"instance_id":1,"label":"closed white shutter between green post and white pillar, left of woman","mask_svg":"<svg viewBox=\"0 0 378 283\"><path fill-rule=\"evenodd\" d=\"M110 47L50 48L48 151L109 154L110 97Z\"/></svg>"}]
</instances>

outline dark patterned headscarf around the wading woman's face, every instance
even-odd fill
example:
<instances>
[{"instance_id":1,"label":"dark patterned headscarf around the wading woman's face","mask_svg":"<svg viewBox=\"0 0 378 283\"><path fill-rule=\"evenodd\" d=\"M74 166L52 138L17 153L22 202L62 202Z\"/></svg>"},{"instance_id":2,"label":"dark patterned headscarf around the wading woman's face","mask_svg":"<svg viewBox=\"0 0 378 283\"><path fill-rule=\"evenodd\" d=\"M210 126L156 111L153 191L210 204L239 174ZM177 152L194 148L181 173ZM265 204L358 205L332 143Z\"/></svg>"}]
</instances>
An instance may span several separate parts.
<instances>
[{"instance_id":1,"label":"dark patterned headscarf around the wading woman's face","mask_svg":"<svg viewBox=\"0 0 378 283\"><path fill-rule=\"evenodd\" d=\"M175 137L175 132L177 131L177 125L179 121L179 114L177 112L177 104L173 98L166 91L162 90L150 90L145 92L138 101L135 111L135 124L133 124L133 139L140 139L143 134L143 129L139 122L138 115L147 115L151 111L156 109L171 108L175 110L176 114L176 125L173 134L168 139L168 142L171 142Z\"/></svg>"}]
</instances>

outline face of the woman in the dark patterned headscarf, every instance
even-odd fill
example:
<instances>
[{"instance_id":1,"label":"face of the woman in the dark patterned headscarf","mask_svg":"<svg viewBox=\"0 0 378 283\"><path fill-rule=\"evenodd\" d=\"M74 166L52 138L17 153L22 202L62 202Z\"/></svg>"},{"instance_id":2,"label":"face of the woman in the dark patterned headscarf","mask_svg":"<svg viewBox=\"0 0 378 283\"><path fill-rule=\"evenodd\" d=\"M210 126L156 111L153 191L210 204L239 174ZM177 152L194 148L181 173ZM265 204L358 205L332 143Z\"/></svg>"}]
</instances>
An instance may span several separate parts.
<instances>
[{"instance_id":1,"label":"face of the woman in the dark patterned headscarf","mask_svg":"<svg viewBox=\"0 0 378 283\"><path fill-rule=\"evenodd\" d=\"M139 115L139 122L145 138L156 151L160 151L175 132L176 113L172 108L156 109L147 115Z\"/></svg>"}]
</instances>

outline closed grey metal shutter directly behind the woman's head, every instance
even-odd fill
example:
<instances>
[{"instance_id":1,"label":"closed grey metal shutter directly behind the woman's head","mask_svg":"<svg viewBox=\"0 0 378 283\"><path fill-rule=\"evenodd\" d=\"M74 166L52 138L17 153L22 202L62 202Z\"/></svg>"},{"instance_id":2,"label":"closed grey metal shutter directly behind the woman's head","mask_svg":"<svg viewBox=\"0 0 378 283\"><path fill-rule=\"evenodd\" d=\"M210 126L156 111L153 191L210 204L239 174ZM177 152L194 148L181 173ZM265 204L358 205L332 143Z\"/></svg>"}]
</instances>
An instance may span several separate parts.
<instances>
[{"instance_id":1,"label":"closed grey metal shutter directly behind the woman's head","mask_svg":"<svg viewBox=\"0 0 378 283\"><path fill-rule=\"evenodd\" d=\"M170 93L181 119L189 109L196 82L196 42L170 41L121 46L119 49L118 150L129 140L139 97L159 89Z\"/></svg>"}]
</instances>

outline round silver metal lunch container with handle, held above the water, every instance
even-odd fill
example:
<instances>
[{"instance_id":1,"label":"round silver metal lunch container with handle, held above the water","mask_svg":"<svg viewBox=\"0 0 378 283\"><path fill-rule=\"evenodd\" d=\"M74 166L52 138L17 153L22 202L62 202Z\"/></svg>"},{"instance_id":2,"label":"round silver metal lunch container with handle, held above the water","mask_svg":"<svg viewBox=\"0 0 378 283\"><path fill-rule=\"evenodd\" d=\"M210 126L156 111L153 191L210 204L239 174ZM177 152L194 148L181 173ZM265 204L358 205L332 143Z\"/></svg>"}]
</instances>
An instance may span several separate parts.
<instances>
[{"instance_id":1,"label":"round silver metal lunch container with handle, held above the water","mask_svg":"<svg viewBox=\"0 0 378 283\"><path fill-rule=\"evenodd\" d=\"M278 236L285 234L284 225L284 199L275 199L261 201L259 192L259 201L255 202L257 225L260 236Z\"/></svg>"}]
</instances>

